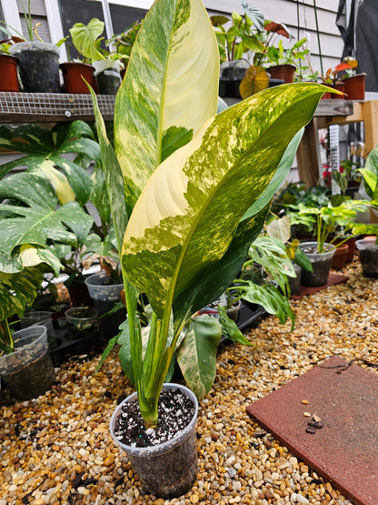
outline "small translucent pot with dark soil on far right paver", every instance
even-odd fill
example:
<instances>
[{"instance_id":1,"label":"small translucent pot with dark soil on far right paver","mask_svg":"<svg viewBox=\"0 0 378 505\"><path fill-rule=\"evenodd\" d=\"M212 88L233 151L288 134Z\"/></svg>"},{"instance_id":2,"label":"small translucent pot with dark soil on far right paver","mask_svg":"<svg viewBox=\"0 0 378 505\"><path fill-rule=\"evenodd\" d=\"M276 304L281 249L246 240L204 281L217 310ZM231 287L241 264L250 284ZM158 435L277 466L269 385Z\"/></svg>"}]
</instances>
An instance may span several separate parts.
<instances>
[{"instance_id":1,"label":"small translucent pot with dark soil on far right paver","mask_svg":"<svg viewBox=\"0 0 378 505\"><path fill-rule=\"evenodd\" d=\"M317 242L303 242L299 247L306 253L313 267L312 272L302 268L301 282L303 286L325 286L330 273L334 247L324 244L323 247L326 252L323 253L311 252L313 249L316 250ZM328 250L329 247L332 248Z\"/></svg>"}]
</instances>

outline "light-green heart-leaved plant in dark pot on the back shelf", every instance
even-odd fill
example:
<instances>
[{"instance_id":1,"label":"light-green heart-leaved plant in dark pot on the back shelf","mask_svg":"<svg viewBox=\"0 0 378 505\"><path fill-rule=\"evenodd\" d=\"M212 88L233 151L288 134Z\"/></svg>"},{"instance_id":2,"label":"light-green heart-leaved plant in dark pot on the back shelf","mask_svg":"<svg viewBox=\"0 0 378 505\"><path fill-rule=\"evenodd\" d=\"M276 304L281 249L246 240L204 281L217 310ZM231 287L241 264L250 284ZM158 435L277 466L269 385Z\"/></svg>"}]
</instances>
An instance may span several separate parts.
<instances>
[{"instance_id":1,"label":"light-green heart-leaved plant in dark pot on the back shelf","mask_svg":"<svg viewBox=\"0 0 378 505\"><path fill-rule=\"evenodd\" d=\"M104 32L104 21L94 17L88 25L75 23L69 32L79 55L94 66L99 92L102 95L115 95L121 84L122 56L101 47L103 39L99 37Z\"/></svg>"}]
</instances>

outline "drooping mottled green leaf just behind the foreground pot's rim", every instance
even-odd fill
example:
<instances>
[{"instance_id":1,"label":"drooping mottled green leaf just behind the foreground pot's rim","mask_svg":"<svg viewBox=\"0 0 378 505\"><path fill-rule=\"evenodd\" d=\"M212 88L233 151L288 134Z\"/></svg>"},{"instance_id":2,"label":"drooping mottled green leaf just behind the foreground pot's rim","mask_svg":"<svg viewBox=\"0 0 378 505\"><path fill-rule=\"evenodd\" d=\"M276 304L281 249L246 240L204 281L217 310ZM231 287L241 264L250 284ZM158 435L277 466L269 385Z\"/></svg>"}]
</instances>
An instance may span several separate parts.
<instances>
[{"instance_id":1,"label":"drooping mottled green leaf just behind the foreground pot's rim","mask_svg":"<svg viewBox=\"0 0 378 505\"><path fill-rule=\"evenodd\" d=\"M216 349L222 330L215 318L198 316L188 323L185 338L177 349L177 362L189 388L204 399L216 374Z\"/></svg>"}]
</instances>

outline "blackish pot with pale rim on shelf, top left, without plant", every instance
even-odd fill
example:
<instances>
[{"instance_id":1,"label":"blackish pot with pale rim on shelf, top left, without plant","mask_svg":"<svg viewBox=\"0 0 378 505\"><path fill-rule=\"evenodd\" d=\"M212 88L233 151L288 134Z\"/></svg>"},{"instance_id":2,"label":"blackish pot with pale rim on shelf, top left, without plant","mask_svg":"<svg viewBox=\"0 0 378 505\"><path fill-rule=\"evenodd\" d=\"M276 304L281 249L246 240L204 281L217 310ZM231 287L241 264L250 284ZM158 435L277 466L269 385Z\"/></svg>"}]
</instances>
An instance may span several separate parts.
<instances>
[{"instance_id":1,"label":"blackish pot with pale rim on shelf, top left, without plant","mask_svg":"<svg viewBox=\"0 0 378 505\"><path fill-rule=\"evenodd\" d=\"M21 81L28 93L59 93L59 48L45 42L20 42L9 51L18 58Z\"/></svg>"}]
</instances>

